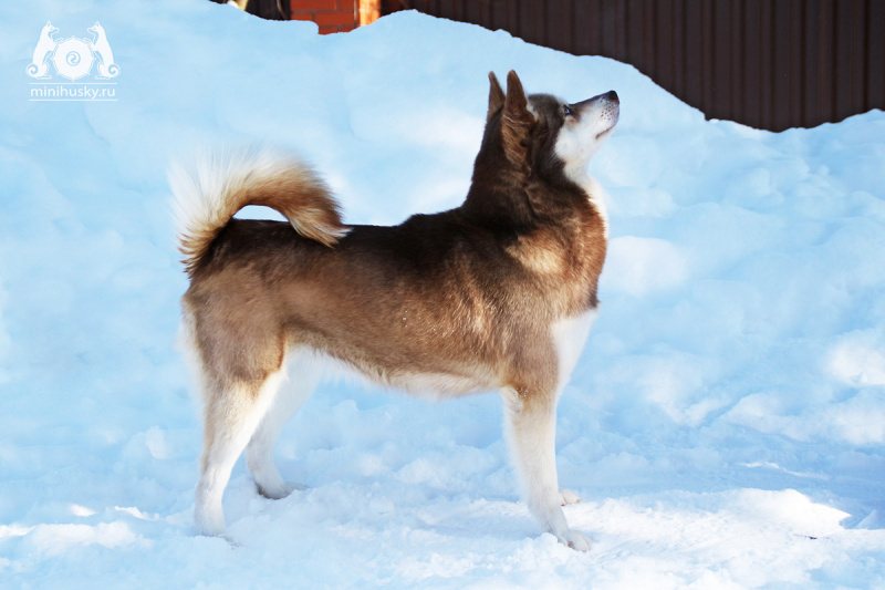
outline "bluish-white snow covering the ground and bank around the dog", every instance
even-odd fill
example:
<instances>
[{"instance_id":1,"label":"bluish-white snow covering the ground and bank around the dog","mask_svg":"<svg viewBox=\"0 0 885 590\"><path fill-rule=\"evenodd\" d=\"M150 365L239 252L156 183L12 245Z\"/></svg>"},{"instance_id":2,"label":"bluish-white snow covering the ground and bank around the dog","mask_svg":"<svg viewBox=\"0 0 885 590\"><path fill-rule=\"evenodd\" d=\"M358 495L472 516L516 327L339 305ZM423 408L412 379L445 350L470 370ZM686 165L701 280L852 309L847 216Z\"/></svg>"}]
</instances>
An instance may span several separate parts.
<instances>
[{"instance_id":1,"label":"bluish-white snow covering the ground and bank around the dog","mask_svg":"<svg viewBox=\"0 0 885 590\"><path fill-rule=\"evenodd\" d=\"M29 100L46 21L96 20L116 101ZM319 37L205 0L2 2L0 68L0 587L885 588L882 112L771 134L503 32L398 13ZM240 463L237 546L195 536L169 161L289 146L348 221L397 222L460 203L509 69L622 100L591 164L603 313L558 436L593 550L519 503L497 395L346 383L283 433L309 488L263 499Z\"/></svg>"}]
</instances>

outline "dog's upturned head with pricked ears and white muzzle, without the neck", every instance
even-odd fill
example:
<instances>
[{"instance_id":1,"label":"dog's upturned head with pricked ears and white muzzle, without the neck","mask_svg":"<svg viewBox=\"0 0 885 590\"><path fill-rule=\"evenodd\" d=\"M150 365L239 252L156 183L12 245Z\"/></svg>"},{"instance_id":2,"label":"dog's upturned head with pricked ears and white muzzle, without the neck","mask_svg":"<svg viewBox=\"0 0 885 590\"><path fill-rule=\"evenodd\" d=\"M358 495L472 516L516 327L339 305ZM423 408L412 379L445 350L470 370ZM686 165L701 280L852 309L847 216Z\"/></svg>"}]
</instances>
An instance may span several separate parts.
<instances>
[{"instance_id":1,"label":"dog's upturned head with pricked ears and white muzzle, without the neck","mask_svg":"<svg viewBox=\"0 0 885 590\"><path fill-rule=\"evenodd\" d=\"M507 92L493 72L489 81L483 145L494 143L500 133L507 161L529 175L583 175L617 124L621 103L614 91L566 103L550 94L527 96L513 71L507 75Z\"/></svg>"}]
</instances>

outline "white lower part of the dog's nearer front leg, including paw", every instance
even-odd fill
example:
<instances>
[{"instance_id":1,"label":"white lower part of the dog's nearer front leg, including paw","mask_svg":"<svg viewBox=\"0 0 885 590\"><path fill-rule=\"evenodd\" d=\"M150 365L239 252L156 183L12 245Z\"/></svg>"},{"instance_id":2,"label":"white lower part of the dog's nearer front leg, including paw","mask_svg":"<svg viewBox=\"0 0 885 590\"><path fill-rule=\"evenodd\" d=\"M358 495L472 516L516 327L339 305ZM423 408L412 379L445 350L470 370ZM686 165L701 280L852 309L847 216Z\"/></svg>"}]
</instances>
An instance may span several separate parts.
<instances>
[{"instance_id":1,"label":"white lower part of the dog's nearer front leg, including paw","mask_svg":"<svg viewBox=\"0 0 885 590\"><path fill-rule=\"evenodd\" d=\"M569 528L556 476L555 395L533 395L518 389L502 391L504 433L529 509L560 542L590 550L590 539Z\"/></svg>"}]
</instances>

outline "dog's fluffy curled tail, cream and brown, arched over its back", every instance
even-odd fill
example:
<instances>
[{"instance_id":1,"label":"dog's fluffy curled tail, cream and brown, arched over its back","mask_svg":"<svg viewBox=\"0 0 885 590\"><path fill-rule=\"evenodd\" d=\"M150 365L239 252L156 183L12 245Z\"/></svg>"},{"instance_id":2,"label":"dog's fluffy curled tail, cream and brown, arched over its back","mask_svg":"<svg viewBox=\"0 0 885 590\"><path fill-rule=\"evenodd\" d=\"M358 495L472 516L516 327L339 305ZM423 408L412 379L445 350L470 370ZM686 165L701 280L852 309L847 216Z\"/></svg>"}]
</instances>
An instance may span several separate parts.
<instances>
[{"instance_id":1,"label":"dog's fluffy curled tail, cream and brown, arched over its back","mask_svg":"<svg viewBox=\"0 0 885 590\"><path fill-rule=\"evenodd\" d=\"M269 149L199 154L192 167L169 170L178 250L192 276L209 245L247 205L280 211L295 231L325 246L346 235L339 204L303 162Z\"/></svg>"}]
</instances>

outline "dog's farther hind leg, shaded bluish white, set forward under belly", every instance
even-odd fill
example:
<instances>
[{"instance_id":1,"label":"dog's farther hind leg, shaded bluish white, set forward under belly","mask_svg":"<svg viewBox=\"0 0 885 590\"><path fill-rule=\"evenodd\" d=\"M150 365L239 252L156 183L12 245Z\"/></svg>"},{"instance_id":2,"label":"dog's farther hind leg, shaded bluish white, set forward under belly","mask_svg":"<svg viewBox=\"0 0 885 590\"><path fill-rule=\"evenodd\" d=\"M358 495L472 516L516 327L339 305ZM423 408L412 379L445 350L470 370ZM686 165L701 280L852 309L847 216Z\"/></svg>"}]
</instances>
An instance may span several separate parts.
<instances>
[{"instance_id":1,"label":"dog's farther hind leg, shaded bluish white, set forward under belly","mask_svg":"<svg viewBox=\"0 0 885 590\"><path fill-rule=\"evenodd\" d=\"M298 354L287 364L292 379L281 384L280 392L246 447L246 463L258 491L271 499L284 498L294 489L303 489L303 486L283 482L273 463L273 449L283 426L308 401L320 377L309 353Z\"/></svg>"}]
</instances>

